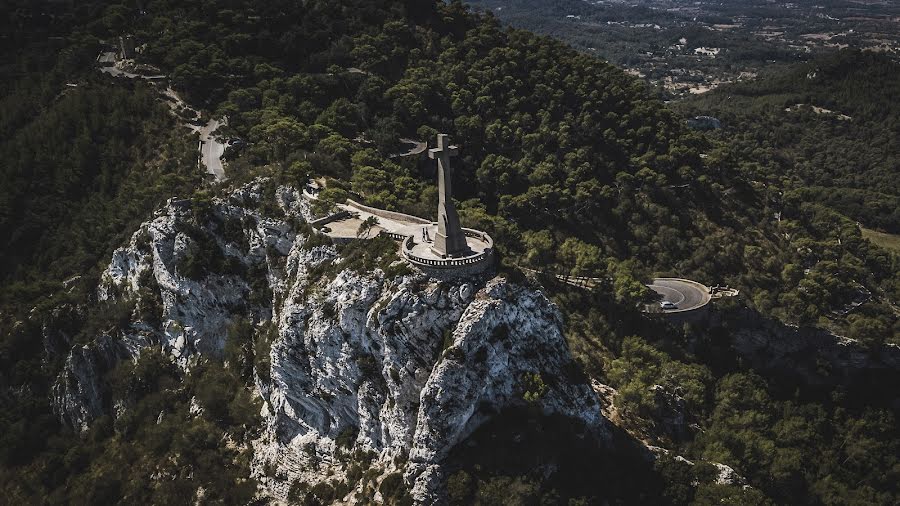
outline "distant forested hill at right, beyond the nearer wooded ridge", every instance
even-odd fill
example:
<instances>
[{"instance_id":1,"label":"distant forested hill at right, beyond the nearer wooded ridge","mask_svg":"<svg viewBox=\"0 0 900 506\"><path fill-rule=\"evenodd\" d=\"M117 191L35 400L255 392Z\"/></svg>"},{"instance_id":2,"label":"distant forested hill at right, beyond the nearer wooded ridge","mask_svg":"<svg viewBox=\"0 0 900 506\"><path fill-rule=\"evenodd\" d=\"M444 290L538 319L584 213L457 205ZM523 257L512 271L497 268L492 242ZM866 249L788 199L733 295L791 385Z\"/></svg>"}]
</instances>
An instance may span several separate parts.
<instances>
[{"instance_id":1,"label":"distant forested hill at right, beyond the nearer wooded ridge","mask_svg":"<svg viewBox=\"0 0 900 506\"><path fill-rule=\"evenodd\" d=\"M790 72L686 100L724 123L719 138L752 161L748 176L900 232L900 63L842 51Z\"/></svg>"}]
</instances>

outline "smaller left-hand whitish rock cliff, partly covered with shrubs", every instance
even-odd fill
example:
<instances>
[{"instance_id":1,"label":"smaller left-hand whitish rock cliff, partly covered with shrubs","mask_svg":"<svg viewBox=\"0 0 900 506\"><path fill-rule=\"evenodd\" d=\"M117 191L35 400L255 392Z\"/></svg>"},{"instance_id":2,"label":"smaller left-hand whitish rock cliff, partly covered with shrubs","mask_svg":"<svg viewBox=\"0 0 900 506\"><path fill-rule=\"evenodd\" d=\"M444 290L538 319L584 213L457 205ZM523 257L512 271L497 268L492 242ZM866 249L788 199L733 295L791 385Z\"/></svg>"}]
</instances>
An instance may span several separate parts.
<instances>
[{"instance_id":1,"label":"smaller left-hand whitish rock cliff, partly covered with shrubs","mask_svg":"<svg viewBox=\"0 0 900 506\"><path fill-rule=\"evenodd\" d=\"M109 412L101 378L119 360L134 360L142 349L160 346L187 369L200 355L221 355L227 327L237 315L271 311L268 290L277 281L278 258L290 251L295 237L286 220L301 214L302 199L280 188L279 202L287 214L267 218L257 210L261 191L259 183L249 185L202 207L171 199L113 253L101 277L98 303L133 303L132 323L68 352L52 399L63 423L85 430ZM180 266L201 242L212 244L208 249L216 255L198 261L217 264L219 271L190 279ZM254 276L261 278L256 285L265 292L256 306L247 302ZM54 344L48 353L59 348L58 336L44 334Z\"/></svg>"}]
</instances>

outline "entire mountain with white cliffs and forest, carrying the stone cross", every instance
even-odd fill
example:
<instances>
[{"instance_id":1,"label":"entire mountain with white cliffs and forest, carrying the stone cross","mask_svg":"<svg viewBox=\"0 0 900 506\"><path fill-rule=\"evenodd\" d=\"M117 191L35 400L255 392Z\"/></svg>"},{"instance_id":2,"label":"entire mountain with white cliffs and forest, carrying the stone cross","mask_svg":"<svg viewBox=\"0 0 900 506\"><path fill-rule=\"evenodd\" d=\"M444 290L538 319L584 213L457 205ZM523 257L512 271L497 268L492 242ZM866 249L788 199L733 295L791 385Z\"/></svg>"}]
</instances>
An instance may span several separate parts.
<instances>
[{"instance_id":1,"label":"entire mountain with white cliffs and forest, carrying the stone cross","mask_svg":"<svg viewBox=\"0 0 900 506\"><path fill-rule=\"evenodd\" d=\"M403 503L410 486L440 493L429 476L443 474L464 503L507 489L548 502L895 499L895 395L871 384L896 377L884 345L898 329L896 257L829 209L780 199L636 80L458 2L142 7L80 3L57 18L71 23L67 49L90 59L99 38L133 33L139 60L244 142L229 182L202 189L177 178L193 169L186 150L175 151L188 163L161 174L105 165L112 181L148 176L112 184L112 209L129 188L148 196L110 220L124 238L99 234L81 262L103 265L75 289L70 271L23 260L46 285L7 292L0 317L7 497ZM93 77L150 104L141 86ZM166 124L161 106L141 110ZM116 110L91 122L107 116ZM45 125L77 139L97 131L91 122ZM115 145L140 121L110 124L122 126ZM392 154L437 131L462 147L460 214L491 232L506 281L423 279L394 263L390 241L333 249L304 223L296 189L309 177L327 180L317 212L352 196L430 216L427 170ZM138 139L115 152L190 140ZM68 188L65 170L53 174L48 184ZM81 258L66 235L37 235L58 248L52 259ZM519 266L607 281L586 292L549 276L537 291ZM743 297L703 323L651 318L638 309L642 281L659 273ZM540 438L543 428L565 435ZM613 444L593 444L605 429ZM651 463L637 441L669 457ZM595 457L608 474L593 473Z\"/></svg>"}]
</instances>

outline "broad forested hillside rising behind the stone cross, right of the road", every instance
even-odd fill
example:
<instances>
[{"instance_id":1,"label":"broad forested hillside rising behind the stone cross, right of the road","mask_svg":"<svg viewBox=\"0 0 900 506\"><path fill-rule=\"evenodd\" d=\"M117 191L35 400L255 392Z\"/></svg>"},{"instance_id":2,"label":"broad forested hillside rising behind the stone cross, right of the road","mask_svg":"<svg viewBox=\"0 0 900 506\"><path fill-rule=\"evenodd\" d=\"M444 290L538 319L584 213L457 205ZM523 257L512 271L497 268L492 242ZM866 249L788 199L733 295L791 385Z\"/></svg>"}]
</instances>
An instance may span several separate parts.
<instances>
[{"instance_id":1,"label":"broad forested hillside rising behind the stone cross, right of the road","mask_svg":"<svg viewBox=\"0 0 900 506\"><path fill-rule=\"evenodd\" d=\"M113 31L152 40L149 61L170 71L187 96L229 117L249 143L235 171L270 166L294 178L329 176L338 181L332 198L344 197L343 188L430 216L429 182L415 164L386 155L399 151L401 137L448 132L463 146L461 212L499 239L509 264L730 282L750 288L767 313L845 333L850 322L832 313L863 286L879 294L872 316L881 322L865 325L880 330L863 337L880 342L895 333L883 299L897 293L887 253L856 247L861 235L839 221L819 226L835 218L814 209L771 208L767 192L742 173L745 153L687 131L615 67L502 30L455 2L439 14L413 4L415 24L397 21L396 6L371 3L267 4L240 16L217 5L173 4L159 11L165 15L133 21L108 10L103 19ZM204 21L188 21L195 19ZM238 35L250 32L259 35ZM786 220L774 219L778 211ZM785 227L791 232L778 230ZM847 237L824 241L823 260L846 259L846 268L825 262L820 277L814 269L804 279L818 262L804 241L837 229Z\"/></svg>"}]
</instances>

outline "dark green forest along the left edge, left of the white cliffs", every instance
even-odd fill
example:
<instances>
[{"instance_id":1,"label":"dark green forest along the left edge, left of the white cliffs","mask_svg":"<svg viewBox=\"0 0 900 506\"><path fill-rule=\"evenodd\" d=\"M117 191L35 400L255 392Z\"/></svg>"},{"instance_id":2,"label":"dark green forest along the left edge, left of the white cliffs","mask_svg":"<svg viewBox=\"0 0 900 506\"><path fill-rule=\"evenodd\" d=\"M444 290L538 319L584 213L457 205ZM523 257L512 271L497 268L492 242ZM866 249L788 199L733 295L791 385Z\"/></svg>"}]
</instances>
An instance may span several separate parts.
<instances>
[{"instance_id":1,"label":"dark green forest along the left edge, left of the white cliffs","mask_svg":"<svg viewBox=\"0 0 900 506\"><path fill-rule=\"evenodd\" d=\"M110 374L127 415L102 417L79 437L50 410L67 345L135 317L152 324L152 293L137 307L87 303L113 249L166 199L192 192L200 174L192 140L152 87L96 74L99 45L82 24L92 13L42 24L30 16L37 8L3 22L16 43L3 45L0 73L2 494L21 503L169 503L202 483L211 498L240 503L254 489L247 457L218 447L237 429L191 417L182 378L158 353ZM148 483L154 472L166 478Z\"/></svg>"}]
</instances>

